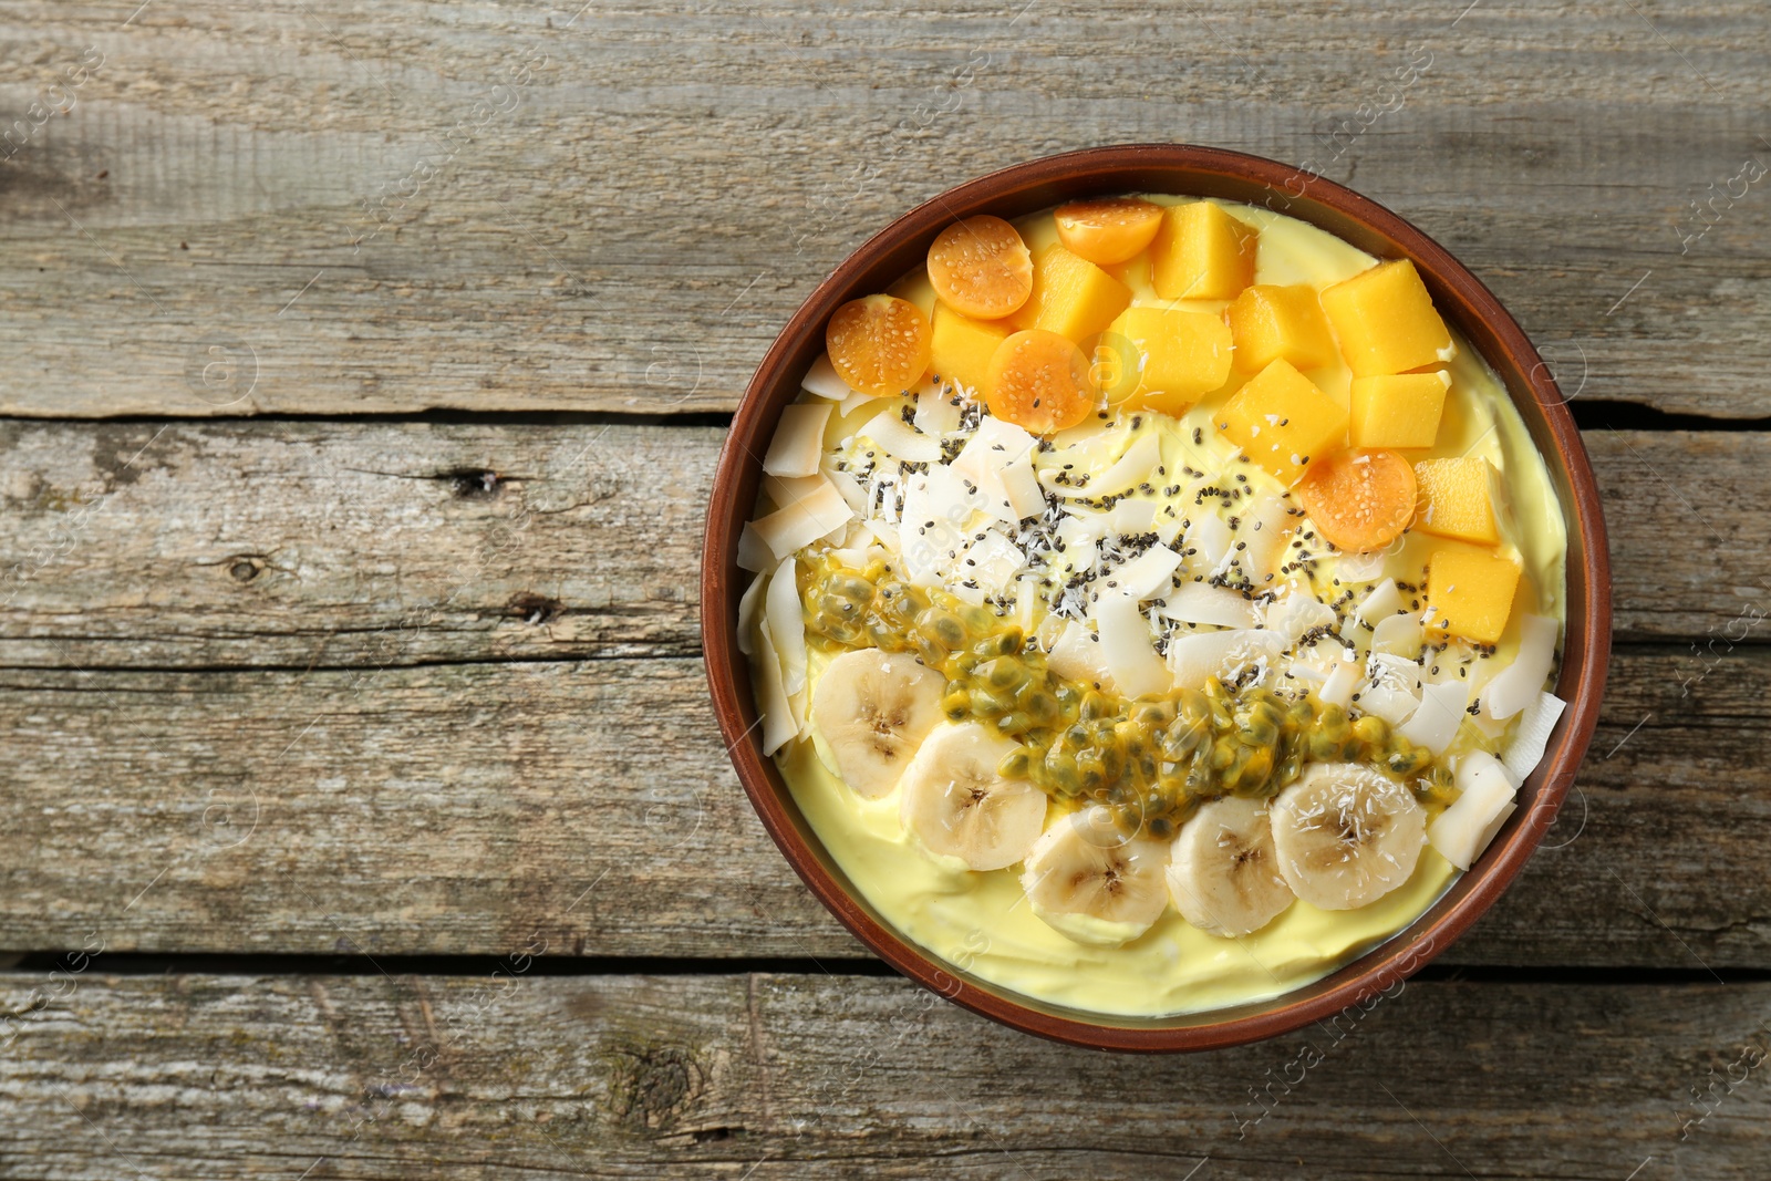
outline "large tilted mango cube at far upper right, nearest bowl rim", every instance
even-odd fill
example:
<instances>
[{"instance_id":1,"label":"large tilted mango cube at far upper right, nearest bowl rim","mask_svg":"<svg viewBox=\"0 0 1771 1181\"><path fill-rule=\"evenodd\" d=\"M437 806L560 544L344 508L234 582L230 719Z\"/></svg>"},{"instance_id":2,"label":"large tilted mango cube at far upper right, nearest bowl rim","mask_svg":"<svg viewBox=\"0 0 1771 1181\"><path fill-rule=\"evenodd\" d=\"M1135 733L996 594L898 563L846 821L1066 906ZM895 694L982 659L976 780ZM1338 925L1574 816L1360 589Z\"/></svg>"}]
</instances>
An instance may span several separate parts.
<instances>
[{"instance_id":1,"label":"large tilted mango cube at far upper right, nearest bowl rim","mask_svg":"<svg viewBox=\"0 0 1771 1181\"><path fill-rule=\"evenodd\" d=\"M1321 303L1355 377L1440 365L1456 352L1427 285L1408 259L1380 262L1325 289Z\"/></svg>"}]
</instances>

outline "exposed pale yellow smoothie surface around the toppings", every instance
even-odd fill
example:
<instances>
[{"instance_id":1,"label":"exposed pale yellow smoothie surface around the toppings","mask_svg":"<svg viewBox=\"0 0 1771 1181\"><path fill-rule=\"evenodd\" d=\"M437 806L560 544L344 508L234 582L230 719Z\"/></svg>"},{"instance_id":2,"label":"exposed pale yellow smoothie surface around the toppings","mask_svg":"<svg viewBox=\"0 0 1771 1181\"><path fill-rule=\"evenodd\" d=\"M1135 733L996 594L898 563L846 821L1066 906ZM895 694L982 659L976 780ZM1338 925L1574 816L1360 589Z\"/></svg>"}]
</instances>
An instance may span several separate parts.
<instances>
[{"instance_id":1,"label":"exposed pale yellow smoothie surface around the toppings","mask_svg":"<svg viewBox=\"0 0 1771 1181\"><path fill-rule=\"evenodd\" d=\"M1151 195L1174 204L1188 198ZM1334 235L1268 209L1222 204L1234 218L1259 230L1257 283L1312 283L1318 289L1374 266L1374 259ZM1038 253L1056 241L1050 214L1018 223ZM1133 306L1183 306L1218 313L1226 301L1164 301L1149 285L1148 267L1118 273L1133 290ZM933 303L926 282L905 283L896 294L912 303ZM1507 632L1493 652L1495 668L1511 662L1527 614L1564 620L1566 528L1550 473L1505 390L1470 345L1456 338L1449 363L1450 390L1438 441L1427 457L1481 455L1500 475L1498 552L1518 560L1525 572ZM1309 370L1325 393L1348 398L1351 372L1337 358ZM1226 471L1236 448L1213 428L1215 411L1247 375L1234 375L1179 418L1155 416L1162 455L1171 471L1192 464ZM850 437L875 402L843 416L831 414L825 443L836 448ZM1149 416L1149 411L1144 411ZM1089 420L1066 432L1063 443L1100 437L1098 460L1110 464L1130 437L1114 436L1105 421ZM1118 443L1116 443L1118 439ZM1250 473L1275 490L1282 485ZM1158 489L1160 492L1160 489ZM1160 496L1158 496L1160 499ZM1194 512L1199 512L1194 508ZM1381 558L1362 560L1362 579L1385 575L1419 579L1433 538L1413 533ZM1043 609L1041 609L1043 616ZM1038 627L1038 623L1034 625ZM813 639L808 646L808 683L815 689L834 648ZM1465 731L1470 728L1465 726ZM1091 1015L1162 1016L1264 1000L1335 970L1374 944L1413 922L1456 880L1458 869L1431 846L1413 876L1374 903L1357 910L1319 910L1298 899L1252 935L1224 938L1190 926L1169 908L1148 931L1119 946L1084 944L1041 921L1018 882L1018 868L972 871L963 862L932 857L900 823L896 795L870 800L857 795L818 754L816 728L786 742L776 754L795 802L855 891L905 938L962 972L997 988ZM1052 816L1064 811L1052 804Z\"/></svg>"}]
</instances>

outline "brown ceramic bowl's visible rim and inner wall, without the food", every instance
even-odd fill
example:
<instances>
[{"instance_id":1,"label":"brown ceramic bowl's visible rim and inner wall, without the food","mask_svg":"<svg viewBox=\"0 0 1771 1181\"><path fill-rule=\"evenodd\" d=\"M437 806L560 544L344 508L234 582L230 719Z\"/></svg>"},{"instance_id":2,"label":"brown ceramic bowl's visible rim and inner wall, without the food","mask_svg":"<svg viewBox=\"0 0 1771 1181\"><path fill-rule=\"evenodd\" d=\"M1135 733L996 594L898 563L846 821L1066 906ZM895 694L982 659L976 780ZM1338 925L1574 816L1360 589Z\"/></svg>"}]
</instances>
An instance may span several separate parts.
<instances>
[{"instance_id":1,"label":"brown ceramic bowl's visible rim and inner wall, without the food","mask_svg":"<svg viewBox=\"0 0 1771 1181\"><path fill-rule=\"evenodd\" d=\"M1569 526L1567 629L1557 685L1569 708L1543 763L1521 788L1520 809L1482 859L1411 926L1314 984L1270 1000L1171 1018L1102 1016L1031 1000L946 965L880 919L831 861L774 763L763 758L749 668L735 636L742 586L737 538L756 501L760 457L781 407L793 400L806 367L824 351L831 313L910 271L935 234L960 218L979 212L1017 218L1066 200L1135 191L1268 205L1380 259L1411 259L1445 319L1505 382L1548 460ZM1351 1004L1369 1004L1374 993L1396 990L1445 951L1518 875L1555 820L1597 724L1610 659L1612 579L1599 492L1564 402L1520 326L1443 246L1383 205L1288 165L1210 147L1135 143L1034 159L949 189L875 234L811 292L756 368L719 457L701 558L701 637L714 708L739 779L788 862L861 942L910 979L1004 1025L1102 1050L1206 1050L1273 1038Z\"/></svg>"}]
</instances>

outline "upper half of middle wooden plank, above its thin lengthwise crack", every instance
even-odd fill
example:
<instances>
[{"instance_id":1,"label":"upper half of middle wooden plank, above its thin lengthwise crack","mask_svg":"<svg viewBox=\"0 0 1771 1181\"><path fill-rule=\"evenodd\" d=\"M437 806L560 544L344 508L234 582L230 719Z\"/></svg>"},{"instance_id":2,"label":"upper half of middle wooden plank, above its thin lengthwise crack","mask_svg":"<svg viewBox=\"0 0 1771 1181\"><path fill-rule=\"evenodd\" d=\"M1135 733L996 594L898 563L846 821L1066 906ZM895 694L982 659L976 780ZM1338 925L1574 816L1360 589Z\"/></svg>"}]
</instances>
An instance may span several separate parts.
<instances>
[{"instance_id":1,"label":"upper half of middle wooden plank, above its thin lengthwise crack","mask_svg":"<svg viewBox=\"0 0 1771 1181\"><path fill-rule=\"evenodd\" d=\"M721 432L0 423L0 664L689 655ZM1589 432L1620 637L1741 639L1755 432ZM496 482L480 473L496 473Z\"/></svg>"}]
</instances>

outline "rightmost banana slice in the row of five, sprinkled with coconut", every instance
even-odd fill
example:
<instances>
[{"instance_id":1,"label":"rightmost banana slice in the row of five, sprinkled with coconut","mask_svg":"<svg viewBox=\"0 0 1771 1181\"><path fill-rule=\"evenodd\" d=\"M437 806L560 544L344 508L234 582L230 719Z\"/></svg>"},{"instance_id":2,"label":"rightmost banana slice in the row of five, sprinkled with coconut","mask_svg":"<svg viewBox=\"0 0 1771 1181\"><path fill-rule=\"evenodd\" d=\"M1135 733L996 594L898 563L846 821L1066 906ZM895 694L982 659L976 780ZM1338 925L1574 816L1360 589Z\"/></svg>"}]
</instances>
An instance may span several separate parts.
<instances>
[{"instance_id":1,"label":"rightmost banana slice in the row of five, sprinkled with coconut","mask_svg":"<svg viewBox=\"0 0 1771 1181\"><path fill-rule=\"evenodd\" d=\"M1303 901L1353 910L1408 880L1427 843L1413 791L1358 763L1318 763L1272 806L1279 871Z\"/></svg>"}]
</instances>

